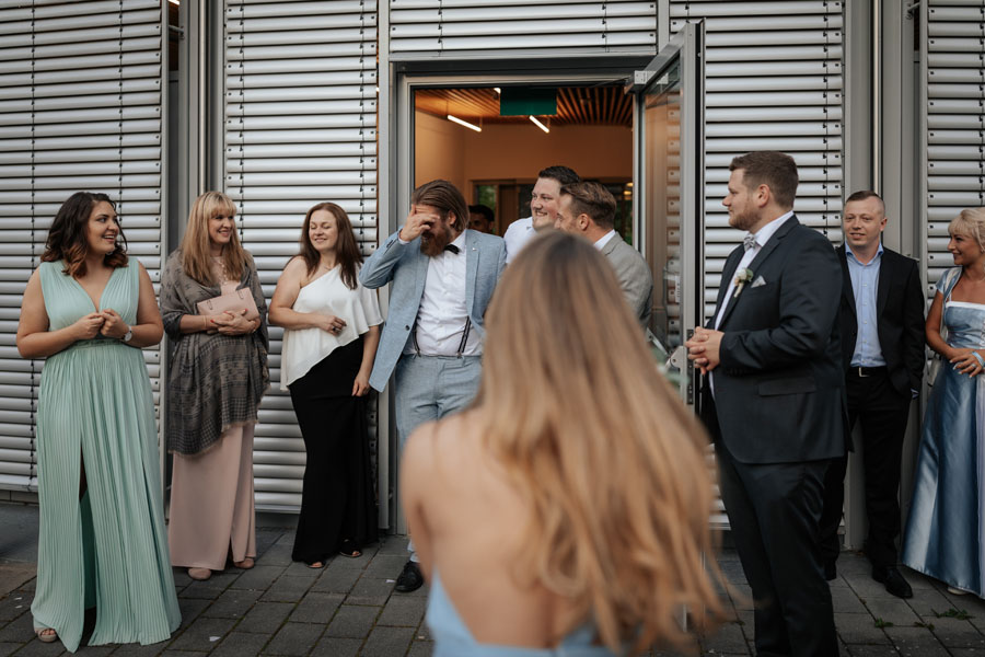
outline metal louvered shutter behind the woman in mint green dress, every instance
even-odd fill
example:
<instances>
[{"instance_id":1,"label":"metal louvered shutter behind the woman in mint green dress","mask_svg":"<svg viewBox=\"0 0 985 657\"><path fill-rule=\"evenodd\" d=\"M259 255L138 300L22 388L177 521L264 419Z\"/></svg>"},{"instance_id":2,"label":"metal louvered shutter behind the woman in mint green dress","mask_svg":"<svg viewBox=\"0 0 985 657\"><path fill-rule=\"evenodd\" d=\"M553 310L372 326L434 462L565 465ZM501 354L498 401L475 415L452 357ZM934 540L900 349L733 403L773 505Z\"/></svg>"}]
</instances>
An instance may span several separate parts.
<instances>
[{"instance_id":1,"label":"metal louvered shutter behind the woman in mint green dress","mask_svg":"<svg viewBox=\"0 0 985 657\"><path fill-rule=\"evenodd\" d=\"M0 488L37 488L44 361L21 359L15 334L61 203L108 194L131 258L160 280L163 11L160 0L0 2ZM157 403L160 349L143 354Z\"/></svg>"}]
</instances>

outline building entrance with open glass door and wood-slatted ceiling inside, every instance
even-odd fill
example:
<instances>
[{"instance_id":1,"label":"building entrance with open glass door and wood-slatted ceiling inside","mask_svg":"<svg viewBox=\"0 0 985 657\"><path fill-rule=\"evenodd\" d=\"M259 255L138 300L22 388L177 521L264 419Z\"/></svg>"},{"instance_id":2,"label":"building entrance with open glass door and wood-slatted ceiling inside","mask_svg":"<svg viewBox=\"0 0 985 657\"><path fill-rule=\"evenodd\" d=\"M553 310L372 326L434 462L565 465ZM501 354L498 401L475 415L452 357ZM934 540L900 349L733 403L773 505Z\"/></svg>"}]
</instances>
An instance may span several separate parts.
<instances>
[{"instance_id":1,"label":"building entrance with open glass door and wood-slatted ceiling inside","mask_svg":"<svg viewBox=\"0 0 985 657\"><path fill-rule=\"evenodd\" d=\"M703 30L686 26L649 62L598 73L555 65L520 74L510 62L510 73L487 64L486 72L465 76L434 72L441 67L431 64L426 74L397 76L389 126L390 231L407 216L414 186L438 177L471 204L489 206L497 234L529 216L530 189L545 166L564 164L609 186L619 233L653 274L654 351L688 404L695 387L681 345L704 313ZM531 100L543 90L552 112ZM511 96L526 99L529 111L503 112ZM396 473L395 436L391 454ZM391 498L404 531L397 496Z\"/></svg>"}]
</instances>

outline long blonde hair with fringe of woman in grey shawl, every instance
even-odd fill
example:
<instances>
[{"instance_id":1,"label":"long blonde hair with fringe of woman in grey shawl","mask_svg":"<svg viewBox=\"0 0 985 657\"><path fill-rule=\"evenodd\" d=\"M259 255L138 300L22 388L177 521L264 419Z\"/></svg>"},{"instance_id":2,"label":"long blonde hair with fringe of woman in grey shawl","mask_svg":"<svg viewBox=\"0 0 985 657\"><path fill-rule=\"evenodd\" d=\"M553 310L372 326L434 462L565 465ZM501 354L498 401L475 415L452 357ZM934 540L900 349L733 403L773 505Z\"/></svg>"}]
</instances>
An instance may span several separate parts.
<instances>
[{"instance_id":1,"label":"long blonde hair with fringe of woman in grey shawl","mask_svg":"<svg viewBox=\"0 0 985 657\"><path fill-rule=\"evenodd\" d=\"M209 251L209 219L223 214L234 216L236 206L222 192L206 192L195 199L188 212L188 226L182 239L182 268L185 274L202 285L216 285L219 281L212 276ZM227 274L235 280L243 278L247 255L240 237L233 230L229 244L222 250L222 264Z\"/></svg>"}]
</instances>

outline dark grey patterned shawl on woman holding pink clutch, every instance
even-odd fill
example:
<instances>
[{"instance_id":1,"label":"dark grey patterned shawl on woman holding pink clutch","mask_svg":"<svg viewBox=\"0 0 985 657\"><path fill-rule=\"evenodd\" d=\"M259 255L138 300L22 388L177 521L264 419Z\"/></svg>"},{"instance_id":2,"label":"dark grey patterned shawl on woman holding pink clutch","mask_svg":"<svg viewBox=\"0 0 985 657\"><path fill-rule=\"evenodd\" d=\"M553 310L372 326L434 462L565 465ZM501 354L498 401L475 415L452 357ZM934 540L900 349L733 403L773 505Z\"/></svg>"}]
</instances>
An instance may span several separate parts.
<instances>
[{"instance_id":1,"label":"dark grey patterned shawl on woman holding pink clutch","mask_svg":"<svg viewBox=\"0 0 985 657\"><path fill-rule=\"evenodd\" d=\"M222 431L256 422L257 407L270 383L267 371L267 303L253 257L236 289L250 288L260 313L260 327L245 335L182 334L182 316L198 314L196 303L219 295L182 268L182 251L167 257L161 280L161 315L174 344L167 376L165 439L167 450L197 454L213 446Z\"/></svg>"}]
</instances>

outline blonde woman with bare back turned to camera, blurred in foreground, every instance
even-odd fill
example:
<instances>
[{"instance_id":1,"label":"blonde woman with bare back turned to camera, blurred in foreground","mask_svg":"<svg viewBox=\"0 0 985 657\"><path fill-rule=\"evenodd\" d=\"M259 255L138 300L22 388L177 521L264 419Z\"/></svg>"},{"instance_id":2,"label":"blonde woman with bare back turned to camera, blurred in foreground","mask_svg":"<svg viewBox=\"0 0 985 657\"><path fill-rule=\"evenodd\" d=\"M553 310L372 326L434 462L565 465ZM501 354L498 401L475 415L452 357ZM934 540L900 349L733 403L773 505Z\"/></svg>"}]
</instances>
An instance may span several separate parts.
<instances>
[{"instance_id":1,"label":"blonde woman with bare back turned to camera, blurred in foreground","mask_svg":"<svg viewBox=\"0 0 985 657\"><path fill-rule=\"evenodd\" d=\"M474 404L420 427L403 456L436 657L686 645L681 604L721 613L720 575L703 566L705 437L612 267L576 237L538 237L486 325Z\"/></svg>"}]
</instances>

